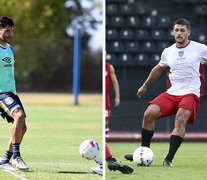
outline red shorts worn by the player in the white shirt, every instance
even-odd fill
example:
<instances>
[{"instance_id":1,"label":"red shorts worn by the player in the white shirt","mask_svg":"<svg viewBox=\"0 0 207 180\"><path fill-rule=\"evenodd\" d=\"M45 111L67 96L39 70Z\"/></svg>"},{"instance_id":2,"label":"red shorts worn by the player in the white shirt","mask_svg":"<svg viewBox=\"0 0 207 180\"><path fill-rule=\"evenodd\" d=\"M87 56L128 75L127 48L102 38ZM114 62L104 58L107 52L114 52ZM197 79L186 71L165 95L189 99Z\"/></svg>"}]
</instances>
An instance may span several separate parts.
<instances>
[{"instance_id":1,"label":"red shorts worn by the player in the white shirt","mask_svg":"<svg viewBox=\"0 0 207 180\"><path fill-rule=\"evenodd\" d=\"M196 113L200 105L200 99L195 94L186 94L184 96L173 96L166 92L160 94L157 98L149 102L160 107L162 116L166 117L177 113L179 108L185 108L191 112L188 124L193 124L196 119Z\"/></svg>"}]
</instances>

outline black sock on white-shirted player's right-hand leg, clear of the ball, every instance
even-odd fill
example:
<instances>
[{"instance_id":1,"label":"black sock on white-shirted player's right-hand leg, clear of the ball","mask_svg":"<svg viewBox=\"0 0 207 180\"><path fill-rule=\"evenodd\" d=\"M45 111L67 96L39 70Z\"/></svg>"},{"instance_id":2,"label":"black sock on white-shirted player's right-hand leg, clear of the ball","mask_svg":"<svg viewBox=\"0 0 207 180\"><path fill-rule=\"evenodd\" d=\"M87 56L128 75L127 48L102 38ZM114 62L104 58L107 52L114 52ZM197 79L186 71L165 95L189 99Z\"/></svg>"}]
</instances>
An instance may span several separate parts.
<instances>
[{"instance_id":1,"label":"black sock on white-shirted player's right-hand leg, clear of the ball","mask_svg":"<svg viewBox=\"0 0 207 180\"><path fill-rule=\"evenodd\" d=\"M170 137L170 149L168 152L168 155L166 156L165 159L169 160L172 162L175 153L177 152L178 148L180 147L181 143L183 141L183 138L177 135L171 135Z\"/></svg>"}]
</instances>

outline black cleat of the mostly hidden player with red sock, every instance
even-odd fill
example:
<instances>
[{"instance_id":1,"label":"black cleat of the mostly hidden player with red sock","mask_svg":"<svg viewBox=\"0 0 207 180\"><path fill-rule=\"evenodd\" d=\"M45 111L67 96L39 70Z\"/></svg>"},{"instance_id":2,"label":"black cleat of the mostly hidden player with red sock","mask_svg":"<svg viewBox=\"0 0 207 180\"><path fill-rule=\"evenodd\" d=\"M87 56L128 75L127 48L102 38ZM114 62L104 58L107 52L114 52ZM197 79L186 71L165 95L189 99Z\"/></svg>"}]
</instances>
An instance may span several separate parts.
<instances>
[{"instance_id":1,"label":"black cleat of the mostly hidden player with red sock","mask_svg":"<svg viewBox=\"0 0 207 180\"><path fill-rule=\"evenodd\" d=\"M109 170L113 170L113 171L120 171L123 174L130 174L134 171L134 169L126 164L123 164L119 161L108 161L108 168Z\"/></svg>"}]
</instances>

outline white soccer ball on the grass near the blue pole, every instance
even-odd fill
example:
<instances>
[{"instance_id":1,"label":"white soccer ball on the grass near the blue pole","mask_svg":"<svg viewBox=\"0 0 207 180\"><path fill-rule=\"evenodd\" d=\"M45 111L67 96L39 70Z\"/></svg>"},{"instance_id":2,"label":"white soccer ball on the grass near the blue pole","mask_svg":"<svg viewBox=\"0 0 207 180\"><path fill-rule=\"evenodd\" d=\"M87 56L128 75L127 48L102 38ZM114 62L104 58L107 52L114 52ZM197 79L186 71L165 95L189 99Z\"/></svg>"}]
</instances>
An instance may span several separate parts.
<instances>
[{"instance_id":1,"label":"white soccer ball on the grass near the blue pole","mask_svg":"<svg viewBox=\"0 0 207 180\"><path fill-rule=\"evenodd\" d=\"M88 139L81 143L79 152L83 158L92 160L99 155L100 148L96 141Z\"/></svg>"}]
</instances>

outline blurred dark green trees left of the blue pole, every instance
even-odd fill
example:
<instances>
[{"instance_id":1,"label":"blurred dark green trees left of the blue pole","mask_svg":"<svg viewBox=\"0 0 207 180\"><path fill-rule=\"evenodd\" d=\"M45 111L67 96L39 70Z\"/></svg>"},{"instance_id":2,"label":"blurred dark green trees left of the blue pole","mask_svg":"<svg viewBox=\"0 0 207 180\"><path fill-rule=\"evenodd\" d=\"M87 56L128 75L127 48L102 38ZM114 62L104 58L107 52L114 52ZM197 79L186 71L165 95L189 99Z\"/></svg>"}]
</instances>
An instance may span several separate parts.
<instances>
[{"instance_id":1,"label":"blurred dark green trees left of the blue pole","mask_svg":"<svg viewBox=\"0 0 207 180\"><path fill-rule=\"evenodd\" d=\"M79 4L79 1L74 2ZM15 49L18 90L72 89L73 38L67 35L66 28L84 10L81 6L69 10L65 3L65 0L0 1L1 15L9 16L15 22L11 44ZM89 34L84 34L85 41L89 38ZM85 41L83 48L87 50Z\"/></svg>"}]
</instances>

